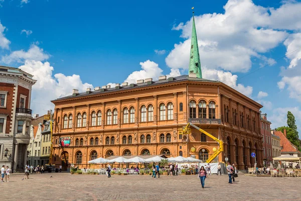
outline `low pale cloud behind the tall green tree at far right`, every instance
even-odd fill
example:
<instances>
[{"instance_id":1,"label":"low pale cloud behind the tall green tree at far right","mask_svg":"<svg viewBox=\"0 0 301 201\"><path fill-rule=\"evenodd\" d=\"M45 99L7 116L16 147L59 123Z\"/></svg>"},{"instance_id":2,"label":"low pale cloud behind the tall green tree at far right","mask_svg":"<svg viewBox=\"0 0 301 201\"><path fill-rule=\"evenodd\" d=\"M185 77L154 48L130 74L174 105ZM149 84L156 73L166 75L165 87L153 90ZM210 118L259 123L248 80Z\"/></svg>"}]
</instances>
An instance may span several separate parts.
<instances>
[{"instance_id":1,"label":"low pale cloud behind the tall green tree at far right","mask_svg":"<svg viewBox=\"0 0 301 201\"><path fill-rule=\"evenodd\" d=\"M301 133L301 110L299 107L274 109L272 111L272 115L267 118L270 122L272 122L271 128L287 126L287 111L290 111L294 115L298 132Z\"/></svg>"}]
</instances>

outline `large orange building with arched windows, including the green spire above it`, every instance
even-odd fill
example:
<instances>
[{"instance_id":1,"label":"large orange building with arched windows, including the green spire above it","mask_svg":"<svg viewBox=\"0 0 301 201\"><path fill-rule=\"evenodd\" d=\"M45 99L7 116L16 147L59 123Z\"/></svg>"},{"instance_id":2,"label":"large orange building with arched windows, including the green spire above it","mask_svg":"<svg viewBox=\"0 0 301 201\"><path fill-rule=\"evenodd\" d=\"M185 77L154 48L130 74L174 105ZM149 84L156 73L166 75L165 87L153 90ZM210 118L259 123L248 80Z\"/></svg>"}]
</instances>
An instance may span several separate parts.
<instances>
[{"instance_id":1,"label":"large orange building with arched windows, including the green spire above it","mask_svg":"<svg viewBox=\"0 0 301 201\"><path fill-rule=\"evenodd\" d=\"M262 165L262 106L230 86L202 78L193 18L189 75L161 76L136 83L105 85L53 100L53 164L88 167L88 161L109 156L165 155L206 161L217 143L191 128L189 122L224 141L215 161Z\"/></svg>"}]
</instances>

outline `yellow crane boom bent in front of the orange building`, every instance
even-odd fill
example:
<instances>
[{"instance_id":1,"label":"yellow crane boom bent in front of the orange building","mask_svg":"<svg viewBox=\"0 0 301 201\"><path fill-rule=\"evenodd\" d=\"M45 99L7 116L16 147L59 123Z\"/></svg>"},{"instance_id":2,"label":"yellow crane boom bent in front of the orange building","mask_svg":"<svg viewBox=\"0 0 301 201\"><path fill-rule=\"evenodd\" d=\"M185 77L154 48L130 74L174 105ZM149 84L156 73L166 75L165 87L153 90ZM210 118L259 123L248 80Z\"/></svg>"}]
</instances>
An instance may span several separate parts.
<instances>
[{"instance_id":1,"label":"yellow crane boom bent in front of the orange building","mask_svg":"<svg viewBox=\"0 0 301 201\"><path fill-rule=\"evenodd\" d=\"M180 131L179 134L189 135L191 133L190 132L190 128L189 128L190 126L192 126L195 129L201 131L202 133L204 133L205 135L207 135L208 137L210 137L211 139L213 139L214 141L216 141L217 144L219 145L219 148L206 160L206 163L210 163L211 161L213 161L213 159L215 159L215 157L217 157L222 151L224 151L224 144L223 144L222 140L217 139L216 137L214 137L210 133L206 132L205 130L197 127L196 125L194 125L192 123L188 123L187 126L185 128L183 128L183 130Z\"/></svg>"}]
</instances>

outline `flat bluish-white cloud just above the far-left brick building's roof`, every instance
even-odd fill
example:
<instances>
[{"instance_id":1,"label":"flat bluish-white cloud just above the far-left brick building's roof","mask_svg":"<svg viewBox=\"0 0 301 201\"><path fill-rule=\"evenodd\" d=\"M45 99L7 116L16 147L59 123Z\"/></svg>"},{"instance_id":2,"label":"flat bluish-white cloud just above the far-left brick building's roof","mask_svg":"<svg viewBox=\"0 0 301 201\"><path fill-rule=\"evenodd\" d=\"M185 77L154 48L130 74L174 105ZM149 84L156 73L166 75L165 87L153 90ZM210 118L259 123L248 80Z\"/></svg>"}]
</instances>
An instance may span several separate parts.
<instances>
[{"instance_id":1,"label":"flat bluish-white cloud just above the far-left brick building's roof","mask_svg":"<svg viewBox=\"0 0 301 201\"><path fill-rule=\"evenodd\" d=\"M8 64L12 62L23 63L25 60L44 61L49 57L50 55L45 53L42 48L33 44L28 51L18 50L11 52L10 55L3 56L2 61Z\"/></svg>"}]
</instances>

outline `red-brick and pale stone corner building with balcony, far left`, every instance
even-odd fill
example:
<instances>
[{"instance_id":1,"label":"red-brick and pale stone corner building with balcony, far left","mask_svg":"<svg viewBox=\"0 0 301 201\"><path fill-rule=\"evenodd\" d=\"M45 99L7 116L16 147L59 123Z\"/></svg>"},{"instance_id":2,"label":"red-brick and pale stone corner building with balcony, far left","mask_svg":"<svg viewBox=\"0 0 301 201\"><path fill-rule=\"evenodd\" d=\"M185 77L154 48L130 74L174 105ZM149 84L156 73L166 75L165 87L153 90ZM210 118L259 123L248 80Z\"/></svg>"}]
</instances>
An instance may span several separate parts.
<instances>
[{"instance_id":1,"label":"red-brick and pale stone corner building with balcony, far left","mask_svg":"<svg viewBox=\"0 0 301 201\"><path fill-rule=\"evenodd\" d=\"M33 75L0 66L0 165L23 171L30 142Z\"/></svg>"}]
</instances>

